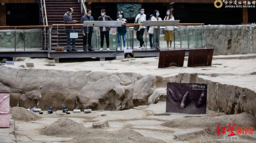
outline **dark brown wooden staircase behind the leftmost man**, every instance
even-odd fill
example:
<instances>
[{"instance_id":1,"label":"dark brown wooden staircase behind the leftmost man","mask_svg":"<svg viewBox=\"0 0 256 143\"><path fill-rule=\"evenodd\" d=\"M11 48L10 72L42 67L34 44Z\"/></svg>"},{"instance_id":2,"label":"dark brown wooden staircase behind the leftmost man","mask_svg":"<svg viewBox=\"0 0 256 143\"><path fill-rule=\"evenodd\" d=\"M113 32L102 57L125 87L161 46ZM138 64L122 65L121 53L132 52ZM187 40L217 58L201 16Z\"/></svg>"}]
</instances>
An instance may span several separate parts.
<instances>
[{"instance_id":1,"label":"dark brown wooden staircase behind the leftmost man","mask_svg":"<svg viewBox=\"0 0 256 143\"><path fill-rule=\"evenodd\" d=\"M43 25L40 0L38 0L38 4L40 9L40 25ZM76 24L80 24L81 17L84 15L83 13L81 13L81 4L77 0L45 0L45 5L48 25L64 24L63 16L69 8L74 9L72 19L77 20ZM74 29L75 32L78 32L78 38L76 39L76 48L82 49L83 35L82 32L80 32L81 27L74 27ZM48 31L48 29L46 31ZM52 50L54 50L55 48L67 47L67 35L66 32L64 32L64 27L53 27L51 35ZM47 40L48 38L46 38L46 44Z\"/></svg>"}]
</instances>

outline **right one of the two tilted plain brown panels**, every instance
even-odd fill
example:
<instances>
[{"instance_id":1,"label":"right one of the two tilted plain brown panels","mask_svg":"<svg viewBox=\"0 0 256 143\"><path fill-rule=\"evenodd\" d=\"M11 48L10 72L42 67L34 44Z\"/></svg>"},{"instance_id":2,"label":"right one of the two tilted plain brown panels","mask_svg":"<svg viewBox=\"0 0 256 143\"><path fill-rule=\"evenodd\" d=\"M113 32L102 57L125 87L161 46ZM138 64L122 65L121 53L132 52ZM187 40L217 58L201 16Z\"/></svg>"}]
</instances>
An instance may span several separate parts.
<instances>
[{"instance_id":1,"label":"right one of the two tilted plain brown panels","mask_svg":"<svg viewBox=\"0 0 256 143\"><path fill-rule=\"evenodd\" d=\"M187 66L211 66L213 60L214 48L207 49L189 49Z\"/></svg>"}]
</instances>

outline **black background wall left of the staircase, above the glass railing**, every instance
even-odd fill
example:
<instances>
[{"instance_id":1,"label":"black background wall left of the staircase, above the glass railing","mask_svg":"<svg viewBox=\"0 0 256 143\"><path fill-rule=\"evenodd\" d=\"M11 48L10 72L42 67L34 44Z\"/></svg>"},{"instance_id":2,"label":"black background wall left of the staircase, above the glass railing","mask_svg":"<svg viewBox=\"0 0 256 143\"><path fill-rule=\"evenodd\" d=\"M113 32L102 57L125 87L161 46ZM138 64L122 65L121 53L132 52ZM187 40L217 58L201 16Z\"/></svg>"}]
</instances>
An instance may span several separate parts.
<instances>
[{"instance_id":1,"label":"black background wall left of the staircase, above the glass railing","mask_svg":"<svg viewBox=\"0 0 256 143\"><path fill-rule=\"evenodd\" d=\"M6 15L6 25L40 25L38 3L6 4L6 11L10 11L10 14Z\"/></svg>"}]
</instances>

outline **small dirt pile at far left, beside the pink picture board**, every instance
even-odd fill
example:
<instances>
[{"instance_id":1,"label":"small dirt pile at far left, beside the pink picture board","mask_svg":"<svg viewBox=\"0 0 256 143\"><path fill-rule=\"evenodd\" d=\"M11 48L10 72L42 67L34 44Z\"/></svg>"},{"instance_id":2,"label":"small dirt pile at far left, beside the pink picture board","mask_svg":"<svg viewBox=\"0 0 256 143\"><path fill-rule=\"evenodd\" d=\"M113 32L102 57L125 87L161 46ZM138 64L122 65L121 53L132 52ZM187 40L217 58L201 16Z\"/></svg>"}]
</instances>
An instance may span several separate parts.
<instances>
[{"instance_id":1,"label":"small dirt pile at far left, beside the pink picture board","mask_svg":"<svg viewBox=\"0 0 256 143\"><path fill-rule=\"evenodd\" d=\"M23 120L23 121L35 121L40 119L41 117L27 111L27 109L23 107L12 107L10 108L10 113L12 114L12 118L14 120Z\"/></svg>"}]
</instances>

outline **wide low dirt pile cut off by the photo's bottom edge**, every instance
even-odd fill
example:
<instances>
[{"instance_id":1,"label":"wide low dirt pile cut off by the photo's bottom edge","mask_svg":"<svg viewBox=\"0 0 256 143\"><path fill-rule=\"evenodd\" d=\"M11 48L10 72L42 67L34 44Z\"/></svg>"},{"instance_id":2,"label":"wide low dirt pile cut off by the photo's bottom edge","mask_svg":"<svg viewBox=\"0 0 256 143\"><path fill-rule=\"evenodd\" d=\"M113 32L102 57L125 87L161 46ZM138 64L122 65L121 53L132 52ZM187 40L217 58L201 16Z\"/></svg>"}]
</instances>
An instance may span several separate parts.
<instances>
[{"instance_id":1,"label":"wide low dirt pile cut off by the photo's bottom edge","mask_svg":"<svg viewBox=\"0 0 256 143\"><path fill-rule=\"evenodd\" d=\"M88 130L84 133L84 136L78 138L74 143L106 143L106 142L127 142L127 143L164 143L160 139L151 137L145 137L132 129L120 129L117 131L105 131L102 129Z\"/></svg>"}]
</instances>

